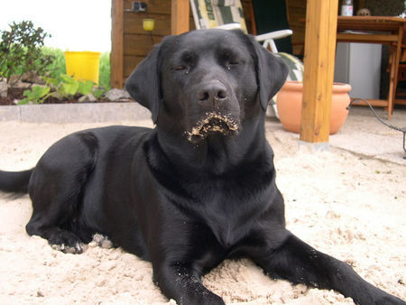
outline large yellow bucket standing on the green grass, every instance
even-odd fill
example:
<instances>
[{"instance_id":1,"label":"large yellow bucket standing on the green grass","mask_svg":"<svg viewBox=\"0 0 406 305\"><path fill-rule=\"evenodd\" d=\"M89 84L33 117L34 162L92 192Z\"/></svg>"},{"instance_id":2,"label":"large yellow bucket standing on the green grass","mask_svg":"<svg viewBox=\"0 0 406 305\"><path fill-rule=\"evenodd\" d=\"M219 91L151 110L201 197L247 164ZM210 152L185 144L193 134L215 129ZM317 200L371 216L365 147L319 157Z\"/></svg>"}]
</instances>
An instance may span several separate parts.
<instances>
[{"instance_id":1,"label":"large yellow bucket standing on the green grass","mask_svg":"<svg viewBox=\"0 0 406 305\"><path fill-rule=\"evenodd\" d=\"M100 52L66 51L66 74L77 80L91 80L98 84Z\"/></svg>"}]
</instances>

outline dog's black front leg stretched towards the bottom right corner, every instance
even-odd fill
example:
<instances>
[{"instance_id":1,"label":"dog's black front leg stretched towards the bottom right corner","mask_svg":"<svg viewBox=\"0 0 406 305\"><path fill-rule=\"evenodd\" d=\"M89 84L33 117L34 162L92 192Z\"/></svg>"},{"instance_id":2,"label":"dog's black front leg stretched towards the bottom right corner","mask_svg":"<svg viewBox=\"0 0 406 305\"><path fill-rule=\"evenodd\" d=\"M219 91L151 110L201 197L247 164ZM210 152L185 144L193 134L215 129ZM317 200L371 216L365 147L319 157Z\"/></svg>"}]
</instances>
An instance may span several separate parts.
<instances>
[{"instance_id":1,"label":"dog's black front leg stretched towards the bottom right corner","mask_svg":"<svg viewBox=\"0 0 406 305\"><path fill-rule=\"evenodd\" d=\"M255 251L253 259L273 278L332 289L356 304L405 304L364 281L347 263L315 250L296 236L289 235L272 251L262 250Z\"/></svg>"}]
</instances>

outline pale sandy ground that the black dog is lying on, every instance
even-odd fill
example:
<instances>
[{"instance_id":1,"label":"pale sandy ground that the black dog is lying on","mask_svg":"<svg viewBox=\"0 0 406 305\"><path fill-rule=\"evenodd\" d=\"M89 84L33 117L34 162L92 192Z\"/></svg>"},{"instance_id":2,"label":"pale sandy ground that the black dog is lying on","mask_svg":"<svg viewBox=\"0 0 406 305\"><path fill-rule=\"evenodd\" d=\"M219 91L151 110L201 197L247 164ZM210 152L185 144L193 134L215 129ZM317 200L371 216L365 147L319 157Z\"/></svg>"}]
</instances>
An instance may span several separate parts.
<instances>
[{"instance_id":1,"label":"pale sandy ground that the black dog is lying on","mask_svg":"<svg viewBox=\"0 0 406 305\"><path fill-rule=\"evenodd\" d=\"M278 123L266 124L277 182L286 200L287 226L320 251L353 265L367 281L406 300L406 163L401 159L401 134L358 115L350 116L342 131L331 137L335 144L329 152L310 152L298 145L296 134L284 132ZM100 125L2 122L0 169L30 168L63 135ZM358 147L367 138L363 133L399 143L395 152L378 150L371 155ZM379 137L371 139L364 148L385 150ZM355 152L343 149L347 145ZM151 264L119 248L91 243L84 254L62 254L42 238L27 236L24 226L31 210L27 196L0 194L1 303L174 303L153 285ZM226 261L203 282L233 304L353 303L335 291L272 281L247 260Z\"/></svg>"}]
</instances>

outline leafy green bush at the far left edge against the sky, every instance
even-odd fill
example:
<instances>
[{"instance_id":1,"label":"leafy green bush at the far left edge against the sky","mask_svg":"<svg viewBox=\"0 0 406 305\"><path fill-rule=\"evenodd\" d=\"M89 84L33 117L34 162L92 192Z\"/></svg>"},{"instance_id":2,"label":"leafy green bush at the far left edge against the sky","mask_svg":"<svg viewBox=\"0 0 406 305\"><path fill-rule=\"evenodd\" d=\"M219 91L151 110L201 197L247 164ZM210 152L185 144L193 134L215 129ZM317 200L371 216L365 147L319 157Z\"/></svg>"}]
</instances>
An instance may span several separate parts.
<instances>
[{"instance_id":1,"label":"leafy green bush at the far left edge against the sky","mask_svg":"<svg viewBox=\"0 0 406 305\"><path fill-rule=\"evenodd\" d=\"M35 28L31 21L10 23L9 31L1 32L0 77L7 79L11 87L23 73L35 70L44 74L53 56L42 53L45 38L51 37L41 27ZM17 76L11 82L11 76Z\"/></svg>"}]
</instances>

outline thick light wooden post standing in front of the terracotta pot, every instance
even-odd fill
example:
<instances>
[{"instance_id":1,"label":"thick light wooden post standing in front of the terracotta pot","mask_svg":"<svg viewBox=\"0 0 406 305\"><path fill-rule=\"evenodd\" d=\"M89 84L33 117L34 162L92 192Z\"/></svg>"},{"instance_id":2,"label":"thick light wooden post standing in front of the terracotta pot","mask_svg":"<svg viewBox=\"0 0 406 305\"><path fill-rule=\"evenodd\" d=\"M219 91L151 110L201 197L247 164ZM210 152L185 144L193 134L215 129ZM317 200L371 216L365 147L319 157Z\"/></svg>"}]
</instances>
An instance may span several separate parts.
<instances>
[{"instance_id":1,"label":"thick light wooden post standing in front of the terracotta pot","mask_svg":"<svg viewBox=\"0 0 406 305\"><path fill-rule=\"evenodd\" d=\"M308 0L300 140L328 143L338 0Z\"/></svg>"}]
</instances>

